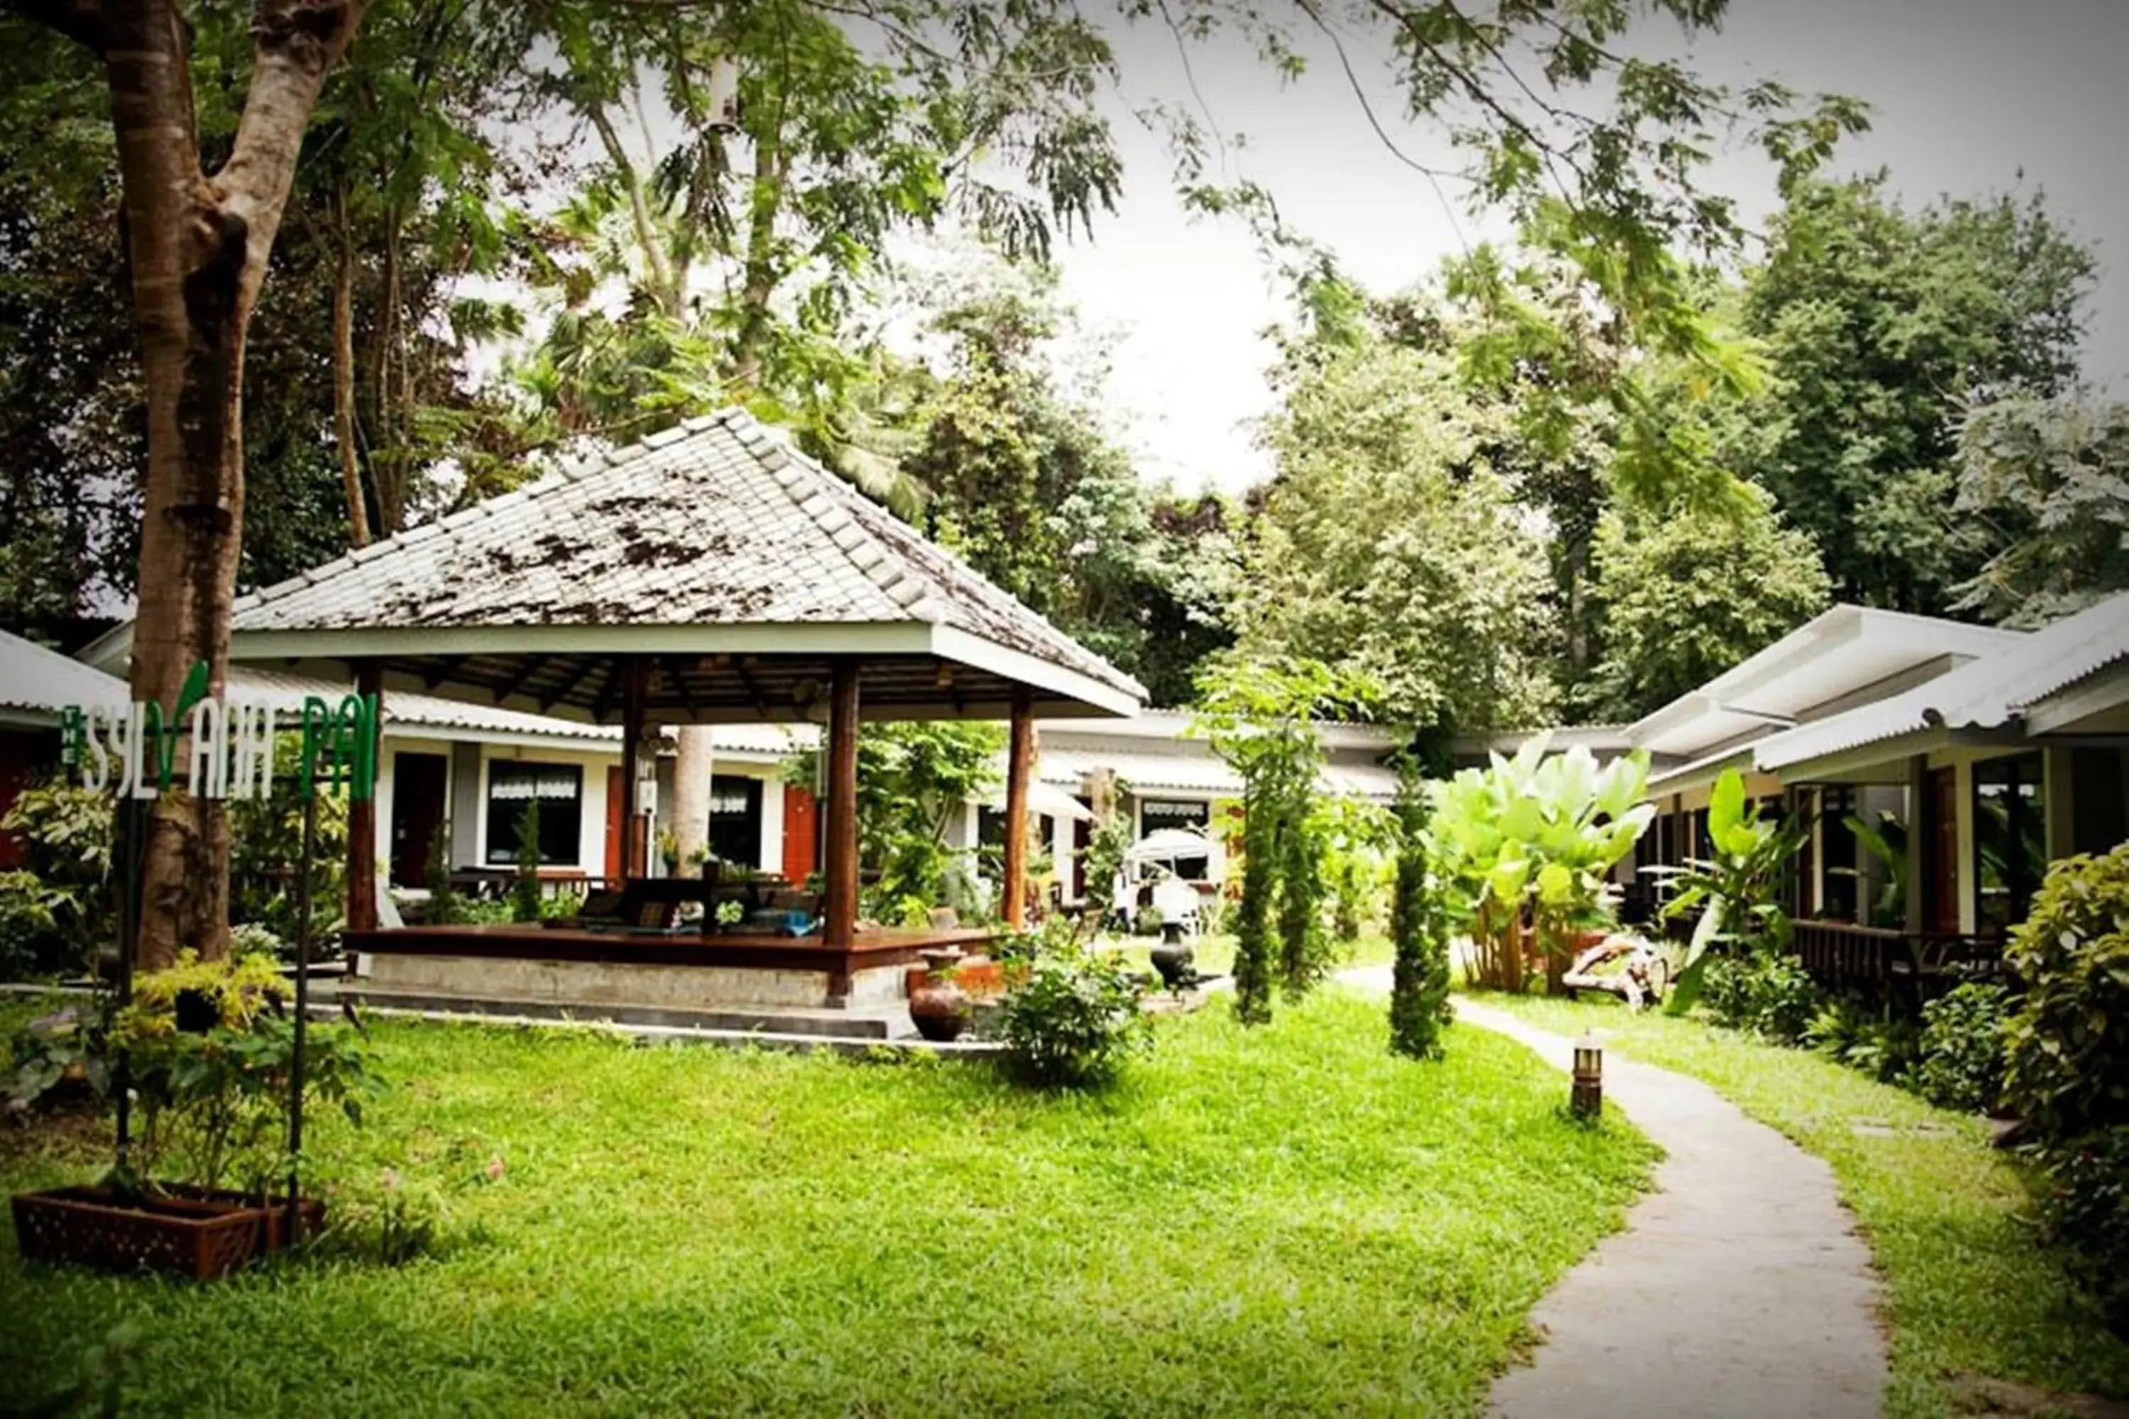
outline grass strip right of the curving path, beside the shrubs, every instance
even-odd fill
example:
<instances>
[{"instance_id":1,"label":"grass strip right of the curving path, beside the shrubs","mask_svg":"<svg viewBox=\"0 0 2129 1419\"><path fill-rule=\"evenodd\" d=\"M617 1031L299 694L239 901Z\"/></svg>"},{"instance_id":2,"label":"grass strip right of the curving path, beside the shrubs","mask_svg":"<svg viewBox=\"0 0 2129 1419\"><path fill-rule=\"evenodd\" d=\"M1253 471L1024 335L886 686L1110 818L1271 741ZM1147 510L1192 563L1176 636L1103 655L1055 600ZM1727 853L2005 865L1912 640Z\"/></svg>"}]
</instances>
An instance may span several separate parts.
<instances>
[{"instance_id":1,"label":"grass strip right of the curving path, beside the shrubs","mask_svg":"<svg viewBox=\"0 0 2129 1419\"><path fill-rule=\"evenodd\" d=\"M2018 1168L1986 1123L1820 1055L1614 1002L1484 996L1561 1034L1693 1074L1833 1168L1884 1276L1888 1415L1959 1413L1963 1381L2129 1396L2129 1345L2035 1245Z\"/></svg>"}]
</instances>

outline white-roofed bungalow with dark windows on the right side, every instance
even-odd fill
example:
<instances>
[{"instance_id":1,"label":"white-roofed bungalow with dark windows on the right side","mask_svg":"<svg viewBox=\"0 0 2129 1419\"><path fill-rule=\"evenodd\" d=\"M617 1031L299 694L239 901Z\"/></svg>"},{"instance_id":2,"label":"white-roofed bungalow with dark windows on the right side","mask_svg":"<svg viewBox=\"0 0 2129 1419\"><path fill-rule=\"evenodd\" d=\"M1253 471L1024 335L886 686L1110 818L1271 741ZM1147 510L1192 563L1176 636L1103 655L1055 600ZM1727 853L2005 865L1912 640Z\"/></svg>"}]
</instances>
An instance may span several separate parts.
<instances>
[{"instance_id":1,"label":"white-roofed bungalow with dark windows on the right side","mask_svg":"<svg viewBox=\"0 0 2129 1419\"><path fill-rule=\"evenodd\" d=\"M1620 738L1652 759L1644 906L1705 855L1735 768L1810 815L1790 911L1816 974L1986 957L2050 859L2129 838L2129 596L2029 634L1835 606Z\"/></svg>"}]
</instances>

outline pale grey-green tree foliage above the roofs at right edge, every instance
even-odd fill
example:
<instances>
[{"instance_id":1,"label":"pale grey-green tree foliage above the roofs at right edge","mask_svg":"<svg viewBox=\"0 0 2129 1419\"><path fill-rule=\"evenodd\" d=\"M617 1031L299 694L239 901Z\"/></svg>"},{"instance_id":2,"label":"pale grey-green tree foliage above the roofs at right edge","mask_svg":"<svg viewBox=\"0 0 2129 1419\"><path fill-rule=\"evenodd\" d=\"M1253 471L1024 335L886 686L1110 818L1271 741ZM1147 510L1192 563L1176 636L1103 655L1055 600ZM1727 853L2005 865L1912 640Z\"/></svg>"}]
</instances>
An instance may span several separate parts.
<instances>
[{"instance_id":1,"label":"pale grey-green tree foliage above the roofs at right edge","mask_svg":"<svg viewBox=\"0 0 2129 1419\"><path fill-rule=\"evenodd\" d=\"M2033 630L2129 589L2129 402L2010 396L1959 423L1961 519L2010 536L1954 611Z\"/></svg>"}]
</instances>

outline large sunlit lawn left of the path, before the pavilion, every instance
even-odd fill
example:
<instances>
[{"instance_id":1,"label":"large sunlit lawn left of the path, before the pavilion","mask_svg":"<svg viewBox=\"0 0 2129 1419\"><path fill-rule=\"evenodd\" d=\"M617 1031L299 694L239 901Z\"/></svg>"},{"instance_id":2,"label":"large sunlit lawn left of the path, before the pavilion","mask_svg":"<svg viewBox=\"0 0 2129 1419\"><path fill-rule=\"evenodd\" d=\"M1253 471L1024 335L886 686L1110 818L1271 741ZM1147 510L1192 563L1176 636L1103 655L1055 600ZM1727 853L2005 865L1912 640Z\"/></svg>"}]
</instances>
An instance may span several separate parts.
<instances>
[{"instance_id":1,"label":"large sunlit lawn left of the path, before the pavilion","mask_svg":"<svg viewBox=\"0 0 2129 1419\"><path fill-rule=\"evenodd\" d=\"M967 1064L630 1047L394 1023L349 1181L451 1193L405 1268L209 1287L0 1249L0 1410L113 1374L153 1413L1467 1413L1654 1149L1460 1032L1386 1053L1343 991L1260 1032L1160 1023L1109 1096ZM0 1134L6 1189L94 1166ZM96 1355L113 1336L117 1359Z\"/></svg>"}]
</instances>

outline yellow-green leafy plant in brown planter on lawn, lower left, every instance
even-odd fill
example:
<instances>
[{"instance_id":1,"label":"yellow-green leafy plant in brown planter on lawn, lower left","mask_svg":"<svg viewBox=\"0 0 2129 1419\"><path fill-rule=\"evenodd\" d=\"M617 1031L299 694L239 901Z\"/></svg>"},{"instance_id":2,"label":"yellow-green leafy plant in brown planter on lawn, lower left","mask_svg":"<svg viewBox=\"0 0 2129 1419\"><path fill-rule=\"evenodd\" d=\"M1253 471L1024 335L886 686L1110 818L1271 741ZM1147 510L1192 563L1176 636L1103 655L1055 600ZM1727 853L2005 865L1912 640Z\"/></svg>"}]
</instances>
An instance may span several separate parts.
<instances>
[{"instance_id":1,"label":"yellow-green leafy plant in brown planter on lawn, lower left","mask_svg":"<svg viewBox=\"0 0 2129 1419\"><path fill-rule=\"evenodd\" d=\"M268 957L202 962L143 976L102 1036L106 1068L123 1059L132 1138L121 1162L85 1187L21 1193L15 1236L32 1262L221 1276L290 1236L287 1168L296 1030L290 985ZM360 1123L377 1087L368 1057L341 1030L311 1030L304 1100ZM117 1089L106 1096L117 1104ZM324 1204L302 1198L296 1228Z\"/></svg>"}]
</instances>

